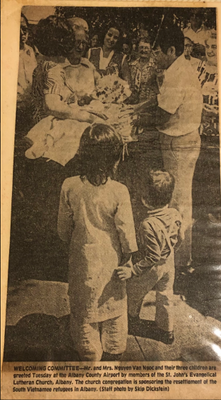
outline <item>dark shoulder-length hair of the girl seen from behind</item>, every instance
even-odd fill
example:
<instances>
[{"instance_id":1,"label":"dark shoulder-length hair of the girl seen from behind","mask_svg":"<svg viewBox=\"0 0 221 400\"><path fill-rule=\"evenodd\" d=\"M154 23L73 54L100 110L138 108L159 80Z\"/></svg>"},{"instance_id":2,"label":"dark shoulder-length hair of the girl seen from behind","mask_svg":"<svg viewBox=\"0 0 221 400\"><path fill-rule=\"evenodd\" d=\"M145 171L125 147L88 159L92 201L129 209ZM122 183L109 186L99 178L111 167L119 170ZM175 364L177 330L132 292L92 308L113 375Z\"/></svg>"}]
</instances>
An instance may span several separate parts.
<instances>
[{"instance_id":1,"label":"dark shoulder-length hair of the girl seen from behind","mask_svg":"<svg viewBox=\"0 0 221 400\"><path fill-rule=\"evenodd\" d=\"M81 179L86 177L94 186L104 185L113 177L116 162L122 153L122 140L106 124L93 124L85 129L79 146Z\"/></svg>"}]
</instances>

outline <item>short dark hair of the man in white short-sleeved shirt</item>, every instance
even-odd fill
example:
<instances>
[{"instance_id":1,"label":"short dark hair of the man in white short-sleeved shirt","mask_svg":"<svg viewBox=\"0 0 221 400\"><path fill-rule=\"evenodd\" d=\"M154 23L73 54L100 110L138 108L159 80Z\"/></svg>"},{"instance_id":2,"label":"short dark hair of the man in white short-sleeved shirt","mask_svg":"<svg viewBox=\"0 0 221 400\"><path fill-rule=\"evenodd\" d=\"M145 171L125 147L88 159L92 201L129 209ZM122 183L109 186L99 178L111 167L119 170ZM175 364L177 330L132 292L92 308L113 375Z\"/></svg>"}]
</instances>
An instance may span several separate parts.
<instances>
[{"instance_id":1,"label":"short dark hair of the man in white short-sleeved shirt","mask_svg":"<svg viewBox=\"0 0 221 400\"><path fill-rule=\"evenodd\" d=\"M159 32L155 47L160 46L162 52L167 54L167 50L174 46L176 56L179 57L184 50L184 35L177 25L170 25L162 28Z\"/></svg>"}]
</instances>

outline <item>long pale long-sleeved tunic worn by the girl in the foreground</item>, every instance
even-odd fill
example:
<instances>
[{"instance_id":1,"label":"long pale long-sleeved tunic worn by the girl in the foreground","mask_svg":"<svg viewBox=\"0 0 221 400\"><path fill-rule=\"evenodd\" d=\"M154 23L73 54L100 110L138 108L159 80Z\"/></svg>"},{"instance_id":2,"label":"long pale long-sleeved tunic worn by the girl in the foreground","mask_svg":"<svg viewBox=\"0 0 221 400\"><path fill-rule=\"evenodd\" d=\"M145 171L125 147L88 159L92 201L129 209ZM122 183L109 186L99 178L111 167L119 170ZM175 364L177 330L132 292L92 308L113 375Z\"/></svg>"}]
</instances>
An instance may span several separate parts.
<instances>
[{"instance_id":1,"label":"long pale long-sleeved tunic worn by the girl in the foreground","mask_svg":"<svg viewBox=\"0 0 221 400\"><path fill-rule=\"evenodd\" d=\"M70 243L69 296L75 317L93 323L122 315L127 307L126 284L115 269L123 253L137 251L126 186L111 179L100 186L79 176L66 179L58 233Z\"/></svg>"}]
</instances>

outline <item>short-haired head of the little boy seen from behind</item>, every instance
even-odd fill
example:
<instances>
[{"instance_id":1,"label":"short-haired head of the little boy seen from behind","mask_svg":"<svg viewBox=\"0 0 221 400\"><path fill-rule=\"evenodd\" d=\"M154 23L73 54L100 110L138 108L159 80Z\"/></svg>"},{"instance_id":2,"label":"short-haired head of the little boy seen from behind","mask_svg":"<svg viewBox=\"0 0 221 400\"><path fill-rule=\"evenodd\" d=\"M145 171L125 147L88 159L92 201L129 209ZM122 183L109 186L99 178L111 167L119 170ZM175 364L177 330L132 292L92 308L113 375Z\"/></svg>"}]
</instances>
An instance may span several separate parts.
<instances>
[{"instance_id":1,"label":"short-haired head of the little boy seen from behind","mask_svg":"<svg viewBox=\"0 0 221 400\"><path fill-rule=\"evenodd\" d=\"M165 207L171 201L174 184L174 177L166 170L151 170L142 197L154 208Z\"/></svg>"}]
</instances>

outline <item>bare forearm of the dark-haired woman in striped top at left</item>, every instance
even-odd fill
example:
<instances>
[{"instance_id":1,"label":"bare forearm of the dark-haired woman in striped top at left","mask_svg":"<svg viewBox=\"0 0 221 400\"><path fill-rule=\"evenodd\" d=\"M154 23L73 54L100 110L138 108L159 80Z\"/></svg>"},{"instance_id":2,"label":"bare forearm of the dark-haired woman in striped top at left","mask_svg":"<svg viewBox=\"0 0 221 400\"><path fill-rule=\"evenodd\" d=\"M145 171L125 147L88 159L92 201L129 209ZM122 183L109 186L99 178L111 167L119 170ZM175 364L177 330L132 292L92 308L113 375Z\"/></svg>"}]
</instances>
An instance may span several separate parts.
<instances>
[{"instance_id":1,"label":"bare forearm of the dark-haired woman in striped top at left","mask_svg":"<svg viewBox=\"0 0 221 400\"><path fill-rule=\"evenodd\" d=\"M81 110L76 104L67 104L58 94L45 94L45 106L51 115L60 119L76 119L80 122L88 122L92 124L95 120L94 115L87 111Z\"/></svg>"}]
</instances>

